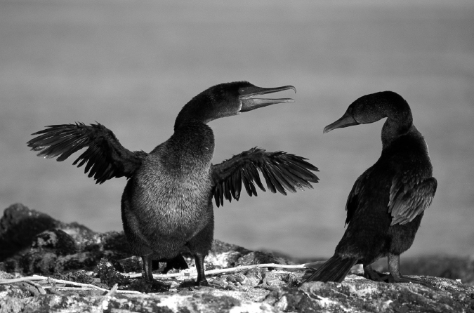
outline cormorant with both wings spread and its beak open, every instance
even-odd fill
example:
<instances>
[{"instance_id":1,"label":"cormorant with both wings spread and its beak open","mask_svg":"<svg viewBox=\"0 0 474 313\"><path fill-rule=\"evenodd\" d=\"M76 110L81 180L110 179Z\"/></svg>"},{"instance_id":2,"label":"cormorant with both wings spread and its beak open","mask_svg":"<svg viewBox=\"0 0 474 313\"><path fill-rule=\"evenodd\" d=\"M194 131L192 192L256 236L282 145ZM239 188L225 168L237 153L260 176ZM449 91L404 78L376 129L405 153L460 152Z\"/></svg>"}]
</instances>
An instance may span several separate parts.
<instances>
[{"instance_id":1,"label":"cormorant with both wings spread and its beak open","mask_svg":"<svg viewBox=\"0 0 474 313\"><path fill-rule=\"evenodd\" d=\"M82 123L47 126L27 145L39 156L64 161L87 147L74 165L85 166L85 173L96 182L125 176L128 179L121 197L121 218L131 251L143 259L145 279L154 281L152 260L167 262L166 269L187 267L180 250L187 247L195 257L197 281L207 285L204 257L213 241L213 205L223 200L238 200L242 183L246 192L257 195L254 183L286 194L296 188L312 187L317 182L315 166L305 158L285 152L265 152L253 148L220 164L211 164L214 136L209 121L237 115L293 99L263 99L258 95L292 89L293 86L261 88L246 81L213 86L192 98L181 109L171 138L152 152L131 152L102 124Z\"/></svg>"}]
</instances>

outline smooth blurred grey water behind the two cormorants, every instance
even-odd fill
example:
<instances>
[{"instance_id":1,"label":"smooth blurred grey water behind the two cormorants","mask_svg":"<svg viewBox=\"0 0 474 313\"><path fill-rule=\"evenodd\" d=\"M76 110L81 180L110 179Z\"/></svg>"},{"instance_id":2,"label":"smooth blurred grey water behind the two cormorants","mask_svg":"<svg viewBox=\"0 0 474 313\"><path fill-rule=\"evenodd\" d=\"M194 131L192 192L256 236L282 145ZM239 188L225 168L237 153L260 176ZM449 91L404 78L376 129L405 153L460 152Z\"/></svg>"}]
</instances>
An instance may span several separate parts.
<instances>
[{"instance_id":1,"label":"smooth blurred grey water behind the two cormorants","mask_svg":"<svg viewBox=\"0 0 474 313\"><path fill-rule=\"evenodd\" d=\"M0 208L22 202L120 230L126 180L35 156L46 125L99 121L150 152L180 108L222 82L292 84L296 99L212 121L215 163L251 147L307 157L315 189L215 208L217 239L327 257L353 182L381 153L383 121L323 135L353 100L392 90L411 105L438 189L407 255L474 253L474 1L0 1ZM79 154L75 154L78 156Z\"/></svg>"}]
</instances>

